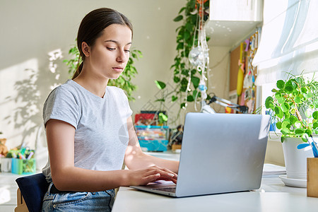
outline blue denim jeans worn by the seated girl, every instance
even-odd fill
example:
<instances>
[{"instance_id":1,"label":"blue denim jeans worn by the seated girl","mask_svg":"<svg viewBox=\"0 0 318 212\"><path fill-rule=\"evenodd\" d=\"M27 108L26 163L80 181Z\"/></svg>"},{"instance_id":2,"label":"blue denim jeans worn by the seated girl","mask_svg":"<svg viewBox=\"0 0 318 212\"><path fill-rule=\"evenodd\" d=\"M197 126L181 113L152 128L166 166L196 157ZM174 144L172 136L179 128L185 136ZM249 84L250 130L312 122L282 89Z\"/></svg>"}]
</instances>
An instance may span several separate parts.
<instances>
[{"instance_id":1,"label":"blue denim jeans worn by the seated girl","mask_svg":"<svg viewBox=\"0 0 318 212\"><path fill-rule=\"evenodd\" d=\"M70 192L50 194L43 198L42 211L112 211L114 189L105 192Z\"/></svg>"}]
</instances>

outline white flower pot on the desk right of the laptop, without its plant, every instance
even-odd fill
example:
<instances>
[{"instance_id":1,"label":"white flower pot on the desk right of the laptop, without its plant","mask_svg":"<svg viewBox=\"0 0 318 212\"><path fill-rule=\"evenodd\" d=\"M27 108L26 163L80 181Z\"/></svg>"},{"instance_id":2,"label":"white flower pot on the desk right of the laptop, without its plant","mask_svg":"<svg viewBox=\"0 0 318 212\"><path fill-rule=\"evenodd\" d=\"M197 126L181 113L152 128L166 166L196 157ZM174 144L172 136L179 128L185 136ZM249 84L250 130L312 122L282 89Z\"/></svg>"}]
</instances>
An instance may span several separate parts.
<instances>
[{"instance_id":1,"label":"white flower pot on the desk right of the laptop, without its plant","mask_svg":"<svg viewBox=\"0 0 318 212\"><path fill-rule=\"evenodd\" d=\"M286 174L291 179L307 179L307 158L314 157L312 148L298 149L300 143L304 143L300 138L285 138L283 141Z\"/></svg>"}]
</instances>

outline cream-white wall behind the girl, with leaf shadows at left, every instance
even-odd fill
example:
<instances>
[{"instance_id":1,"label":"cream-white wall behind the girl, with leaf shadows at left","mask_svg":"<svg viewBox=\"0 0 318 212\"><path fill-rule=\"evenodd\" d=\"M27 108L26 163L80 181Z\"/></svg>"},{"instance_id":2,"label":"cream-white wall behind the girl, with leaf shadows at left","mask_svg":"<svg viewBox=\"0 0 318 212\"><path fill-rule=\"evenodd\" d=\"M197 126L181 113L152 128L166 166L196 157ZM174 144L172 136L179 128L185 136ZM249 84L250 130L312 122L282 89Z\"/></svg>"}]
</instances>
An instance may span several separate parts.
<instances>
[{"instance_id":1,"label":"cream-white wall behind the girl, with leaf shadows at left","mask_svg":"<svg viewBox=\"0 0 318 212\"><path fill-rule=\"evenodd\" d=\"M186 2L0 1L0 131L8 139L8 148L23 141L31 148L36 140L45 145L42 105L50 90L69 77L62 61L69 58L68 50L75 43L81 19L94 8L114 8L134 25L133 47L143 52L143 58L136 63L139 74L133 82L139 88L134 94L136 101L130 104L134 113L146 109L158 95L153 81L169 82L172 78L170 66L176 53L175 29L179 26L172 20ZM228 51L227 47L211 47L211 66L218 64ZM209 86L213 88L208 90L224 98L228 94L228 64L229 56L225 56L212 69ZM25 69L33 69L34 73ZM20 84L15 86L16 83ZM170 110L177 111L176 106ZM187 111L193 111L193 105ZM178 122L181 124L183 119Z\"/></svg>"}]
</instances>

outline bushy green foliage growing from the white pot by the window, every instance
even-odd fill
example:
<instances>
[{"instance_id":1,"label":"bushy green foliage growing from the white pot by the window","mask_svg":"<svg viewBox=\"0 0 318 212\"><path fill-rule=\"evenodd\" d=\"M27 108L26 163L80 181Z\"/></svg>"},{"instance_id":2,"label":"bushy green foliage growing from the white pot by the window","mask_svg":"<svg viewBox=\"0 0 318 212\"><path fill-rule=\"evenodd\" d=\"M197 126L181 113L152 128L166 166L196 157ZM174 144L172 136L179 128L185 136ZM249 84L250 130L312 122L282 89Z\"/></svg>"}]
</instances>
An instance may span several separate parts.
<instances>
[{"instance_id":1,"label":"bushy green foliage growing from the white pot by the window","mask_svg":"<svg viewBox=\"0 0 318 212\"><path fill-rule=\"evenodd\" d=\"M301 76L278 80L266 98L265 106L271 110L277 129L281 129L281 142L287 137L318 134L318 82Z\"/></svg>"}]
</instances>

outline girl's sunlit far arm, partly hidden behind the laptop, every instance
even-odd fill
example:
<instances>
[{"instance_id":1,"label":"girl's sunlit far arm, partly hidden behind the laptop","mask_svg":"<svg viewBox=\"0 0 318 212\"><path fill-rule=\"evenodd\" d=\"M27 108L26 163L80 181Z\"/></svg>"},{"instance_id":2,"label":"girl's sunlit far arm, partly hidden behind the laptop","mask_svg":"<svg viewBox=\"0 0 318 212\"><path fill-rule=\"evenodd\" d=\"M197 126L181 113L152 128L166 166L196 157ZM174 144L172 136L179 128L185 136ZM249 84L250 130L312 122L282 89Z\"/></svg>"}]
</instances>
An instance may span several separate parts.
<instances>
[{"instance_id":1,"label":"girl's sunlit far arm, partly hidden behind the laptop","mask_svg":"<svg viewBox=\"0 0 318 212\"><path fill-rule=\"evenodd\" d=\"M155 158L141 151L131 117L127 119L127 127L129 131L129 143L125 153L125 164L130 170L138 170L145 167L157 166L163 167L163 169L167 170L167 172L178 172L178 161Z\"/></svg>"}]
</instances>

